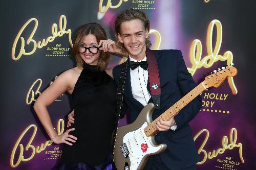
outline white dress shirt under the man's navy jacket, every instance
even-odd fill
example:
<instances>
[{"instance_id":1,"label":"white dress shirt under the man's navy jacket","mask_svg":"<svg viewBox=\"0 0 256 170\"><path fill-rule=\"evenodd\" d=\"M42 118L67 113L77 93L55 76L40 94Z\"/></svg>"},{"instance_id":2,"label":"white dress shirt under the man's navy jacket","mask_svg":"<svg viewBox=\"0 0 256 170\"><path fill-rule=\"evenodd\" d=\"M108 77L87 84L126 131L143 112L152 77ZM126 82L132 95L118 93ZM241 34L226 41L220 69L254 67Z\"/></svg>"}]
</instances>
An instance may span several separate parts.
<instances>
[{"instance_id":1,"label":"white dress shirt under the man's navy jacket","mask_svg":"<svg viewBox=\"0 0 256 170\"><path fill-rule=\"evenodd\" d=\"M130 61L135 61L135 62L146 61L146 56L144 57L143 60L140 60L140 61L137 61L130 56L129 58L130 58ZM147 80L148 80L147 70L144 70L140 66L138 66L134 70L130 68L130 76L131 76L133 98L139 101L143 106L146 106L147 102L151 98L150 92L148 92L146 88Z\"/></svg>"}]
</instances>

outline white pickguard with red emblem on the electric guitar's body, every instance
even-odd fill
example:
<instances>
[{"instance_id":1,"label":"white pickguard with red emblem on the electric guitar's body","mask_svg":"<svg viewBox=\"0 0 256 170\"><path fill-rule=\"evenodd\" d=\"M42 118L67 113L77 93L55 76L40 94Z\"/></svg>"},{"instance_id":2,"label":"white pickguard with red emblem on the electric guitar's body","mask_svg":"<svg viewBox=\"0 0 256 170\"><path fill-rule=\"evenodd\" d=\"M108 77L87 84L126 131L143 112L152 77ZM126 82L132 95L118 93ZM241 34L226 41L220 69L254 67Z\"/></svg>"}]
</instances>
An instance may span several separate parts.
<instances>
[{"instance_id":1,"label":"white pickguard with red emblem on the electric guitar's body","mask_svg":"<svg viewBox=\"0 0 256 170\"><path fill-rule=\"evenodd\" d=\"M153 147L150 138L145 135L143 129L146 126L147 123L145 122L138 130L129 132L123 137L123 143L126 143L130 152L130 170L136 170L145 155L156 153L161 149L160 145Z\"/></svg>"}]
</instances>

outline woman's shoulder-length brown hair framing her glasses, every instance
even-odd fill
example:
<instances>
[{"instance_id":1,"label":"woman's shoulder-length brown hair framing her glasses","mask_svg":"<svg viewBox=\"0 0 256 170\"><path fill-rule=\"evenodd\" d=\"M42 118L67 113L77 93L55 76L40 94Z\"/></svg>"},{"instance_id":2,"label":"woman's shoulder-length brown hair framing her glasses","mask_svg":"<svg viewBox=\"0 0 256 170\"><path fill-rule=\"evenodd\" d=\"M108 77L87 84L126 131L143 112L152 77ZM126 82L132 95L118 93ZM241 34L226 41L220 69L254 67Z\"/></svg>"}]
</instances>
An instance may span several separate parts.
<instances>
[{"instance_id":1,"label":"woman's shoulder-length brown hair framing her glasses","mask_svg":"<svg viewBox=\"0 0 256 170\"><path fill-rule=\"evenodd\" d=\"M81 26L76 32L75 42L74 42L73 52L72 52L73 56L76 59L76 65L78 67L82 67L84 63L83 59L80 57L78 53L78 48L81 45L83 36L86 36L89 34L94 35L98 43L102 39L107 39L105 30L98 23L95 23L95 22L87 23L86 25ZM99 53L100 55L99 55L98 67L102 71L106 69L106 67L108 66L111 56L109 53L103 53L102 51L99 51Z\"/></svg>"}]
</instances>

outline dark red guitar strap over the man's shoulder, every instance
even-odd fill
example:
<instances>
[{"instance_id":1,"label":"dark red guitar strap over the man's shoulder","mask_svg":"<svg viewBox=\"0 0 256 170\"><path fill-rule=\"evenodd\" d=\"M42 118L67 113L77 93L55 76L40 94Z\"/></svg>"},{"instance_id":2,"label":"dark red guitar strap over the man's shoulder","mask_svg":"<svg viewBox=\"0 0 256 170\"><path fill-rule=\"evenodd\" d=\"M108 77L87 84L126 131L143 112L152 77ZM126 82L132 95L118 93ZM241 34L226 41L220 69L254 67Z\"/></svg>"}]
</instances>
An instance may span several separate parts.
<instances>
[{"instance_id":1,"label":"dark red guitar strap over the man's shoulder","mask_svg":"<svg viewBox=\"0 0 256 170\"><path fill-rule=\"evenodd\" d=\"M146 49L148 79L150 80L150 92L156 109L160 108L160 80L156 55L152 50Z\"/></svg>"}]
</instances>

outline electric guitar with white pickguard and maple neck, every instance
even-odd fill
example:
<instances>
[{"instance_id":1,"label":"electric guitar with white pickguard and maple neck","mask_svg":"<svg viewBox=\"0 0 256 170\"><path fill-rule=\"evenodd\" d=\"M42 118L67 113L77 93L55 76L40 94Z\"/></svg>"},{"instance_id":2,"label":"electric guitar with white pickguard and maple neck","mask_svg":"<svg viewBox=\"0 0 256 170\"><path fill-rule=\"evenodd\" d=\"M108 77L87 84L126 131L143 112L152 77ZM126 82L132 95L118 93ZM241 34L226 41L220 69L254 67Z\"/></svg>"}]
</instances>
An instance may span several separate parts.
<instances>
[{"instance_id":1,"label":"electric guitar with white pickguard and maple neck","mask_svg":"<svg viewBox=\"0 0 256 170\"><path fill-rule=\"evenodd\" d=\"M165 121L169 120L205 89L219 87L227 77L236 75L237 68L233 66L222 67L222 70L219 68L218 72L215 70L214 74L205 77L203 82L184 95L154 121L152 121L152 114L155 110L154 104L146 105L134 123L118 128L113 156L116 168L118 170L143 169L150 155L159 154L167 147L166 144L157 145L155 142L155 134L158 132L156 128L157 121L160 118Z\"/></svg>"}]
</instances>

